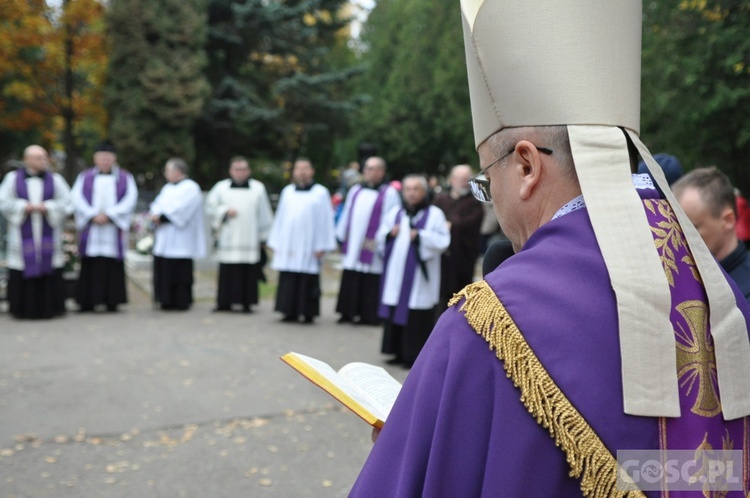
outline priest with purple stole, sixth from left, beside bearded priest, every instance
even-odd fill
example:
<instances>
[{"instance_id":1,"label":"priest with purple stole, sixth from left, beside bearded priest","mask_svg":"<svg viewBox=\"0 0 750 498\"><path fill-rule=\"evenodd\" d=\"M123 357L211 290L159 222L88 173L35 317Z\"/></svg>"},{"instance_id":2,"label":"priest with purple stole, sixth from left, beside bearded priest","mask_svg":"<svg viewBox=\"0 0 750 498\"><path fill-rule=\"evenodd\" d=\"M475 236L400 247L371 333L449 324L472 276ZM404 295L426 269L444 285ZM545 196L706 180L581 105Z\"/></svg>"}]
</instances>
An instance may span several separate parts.
<instances>
[{"instance_id":1,"label":"priest with purple stole, sixth from left, beside bearded priest","mask_svg":"<svg viewBox=\"0 0 750 498\"><path fill-rule=\"evenodd\" d=\"M377 325L378 286L383 258L376 251L375 235L385 216L401 205L398 191L385 181L387 164L382 157L365 161L363 182L349 189L336 225L343 253L343 272L336 312L339 323Z\"/></svg>"}]
</instances>

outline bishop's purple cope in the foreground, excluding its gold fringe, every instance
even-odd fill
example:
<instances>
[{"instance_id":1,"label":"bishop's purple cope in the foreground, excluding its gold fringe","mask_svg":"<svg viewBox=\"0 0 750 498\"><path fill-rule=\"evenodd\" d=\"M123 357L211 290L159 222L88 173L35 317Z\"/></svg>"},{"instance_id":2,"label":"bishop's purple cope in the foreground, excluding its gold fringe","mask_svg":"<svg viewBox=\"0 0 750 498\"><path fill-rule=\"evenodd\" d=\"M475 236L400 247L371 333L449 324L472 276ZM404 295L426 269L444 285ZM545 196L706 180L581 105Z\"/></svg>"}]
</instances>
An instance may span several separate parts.
<instances>
[{"instance_id":1,"label":"bishop's purple cope in the foreground, excluding its gold fringe","mask_svg":"<svg viewBox=\"0 0 750 498\"><path fill-rule=\"evenodd\" d=\"M644 200L644 207L657 246L662 244L665 267L672 268L679 419L623 412L615 296L585 208L540 227L486 281L535 356L613 455L665 446L695 449L704 438L720 449L726 438L733 449L745 452L744 468L735 475L742 476L747 493L749 423L725 422L716 412L719 400L708 387L715 386L715 379L705 361L711 348L700 312L703 287L684 259L689 254L677 244L681 233L671 210L656 199ZM748 319L750 307L733 288ZM582 496L565 453L528 413L503 363L459 308L449 308L435 326L351 496ZM668 496L688 494L670 491Z\"/></svg>"}]
</instances>

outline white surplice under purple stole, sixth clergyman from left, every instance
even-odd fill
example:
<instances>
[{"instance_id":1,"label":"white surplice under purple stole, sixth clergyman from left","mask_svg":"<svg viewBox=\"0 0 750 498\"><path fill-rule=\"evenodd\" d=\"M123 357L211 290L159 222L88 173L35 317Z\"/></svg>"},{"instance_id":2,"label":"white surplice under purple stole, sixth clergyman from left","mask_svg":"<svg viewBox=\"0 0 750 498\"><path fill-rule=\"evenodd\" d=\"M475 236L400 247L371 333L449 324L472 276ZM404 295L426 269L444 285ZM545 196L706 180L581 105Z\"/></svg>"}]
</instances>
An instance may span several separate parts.
<instances>
[{"instance_id":1,"label":"white surplice under purple stole, sixth clergyman from left","mask_svg":"<svg viewBox=\"0 0 750 498\"><path fill-rule=\"evenodd\" d=\"M359 195L357 195L357 192L360 192ZM356 201L352 206L352 199L355 198L355 195ZM336 239L347 241L346 253L344 254L342 261L345 270L374 274L380 274L383 272L383 258L377 251L374 251L375 254L372 258L371 264L362 263L359 260L359 255L362 251L362 244L364 243L365 235L367 234L367 227L370 224L370 216L372 215L377 198L377 190L363 188L361 185L355 185L349 189L349 192L346 195L346 201L344 202L341 217L336 225ZM383 211L380 223L383 222L386 213L390 212L394 207L401 207L401 195L395 188L388 185L383 198ZM351 223L349 222L350 216ZM346 233L347 228L349 229L348 234Z\"/></svg>"}]
</instances>

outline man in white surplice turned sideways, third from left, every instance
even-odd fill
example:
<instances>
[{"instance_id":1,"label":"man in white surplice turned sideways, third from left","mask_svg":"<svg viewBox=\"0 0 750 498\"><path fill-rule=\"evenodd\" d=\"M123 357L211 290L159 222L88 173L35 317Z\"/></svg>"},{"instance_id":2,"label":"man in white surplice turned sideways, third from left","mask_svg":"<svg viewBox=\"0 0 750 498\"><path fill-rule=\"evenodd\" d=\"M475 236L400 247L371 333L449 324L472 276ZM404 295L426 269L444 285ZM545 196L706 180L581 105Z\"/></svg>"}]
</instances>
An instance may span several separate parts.
<instances>
[{"instance_id":1,"label":"man in white surplice turned sideways, third from left","mask_svg":"<svg viewBox=\"0 0 750 498\"><path fill-rule=\"evenodd\" d=\"M151 204L154 232L154 301L163 310L187 310L193 303L193 260L206 256L203 194L188 178L187 163L169 159L167 184Z\"/></svg>"}]
</instances>

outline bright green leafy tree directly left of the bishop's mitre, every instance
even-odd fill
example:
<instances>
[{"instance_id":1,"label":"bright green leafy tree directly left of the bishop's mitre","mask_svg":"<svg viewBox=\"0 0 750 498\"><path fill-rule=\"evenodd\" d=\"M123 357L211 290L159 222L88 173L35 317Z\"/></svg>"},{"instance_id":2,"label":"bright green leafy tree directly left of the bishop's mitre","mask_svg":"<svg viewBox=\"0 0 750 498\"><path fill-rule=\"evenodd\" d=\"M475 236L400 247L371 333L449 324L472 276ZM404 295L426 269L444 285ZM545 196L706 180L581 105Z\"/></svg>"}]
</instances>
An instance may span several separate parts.
<instances>
[{"instance_id":1,"label":"bright green leafy tree directly left of the bishop's mitre","mask_svg":"<svg viewBox=\"0 0 750 498\"><path fill-rule=\"evenodd\" d=\"M476 162L459 4L380 0L363 39L370 103L353 142L376 144L397 177Z\"/></svg>"}]
</instances>

